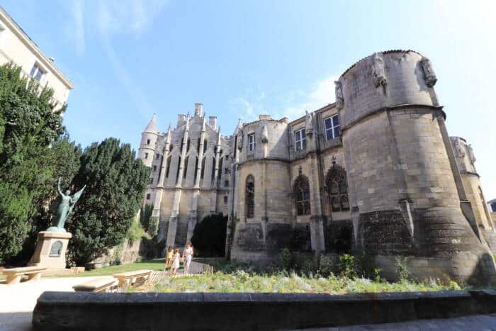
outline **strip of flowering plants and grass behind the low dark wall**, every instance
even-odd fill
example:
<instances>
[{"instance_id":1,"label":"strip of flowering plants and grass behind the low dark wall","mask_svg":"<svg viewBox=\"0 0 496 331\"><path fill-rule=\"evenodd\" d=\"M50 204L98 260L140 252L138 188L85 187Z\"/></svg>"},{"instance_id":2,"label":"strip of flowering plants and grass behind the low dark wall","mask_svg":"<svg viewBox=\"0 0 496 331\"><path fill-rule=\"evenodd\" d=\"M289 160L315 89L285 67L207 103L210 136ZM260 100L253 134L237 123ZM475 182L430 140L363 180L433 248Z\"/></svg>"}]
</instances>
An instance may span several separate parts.
<instances>
[{"instance_id":1,"label":"strip of flowering plants and grass behind the low dark wall","mask_svg":"<svg viewBox=\"0 0 496 331\"><path fill-rule=\"evenodd\" d=\"M210 275L184 276L162 279L158 284L132 291L148 292L248 292L248 293L379 293L407 291L441 291L461 289L451 282L389 283L385 280L348 279L346 277L299 276L298 274L249 274L235 271L232 274L217 272Z\"/></svg>"}]
</instances>

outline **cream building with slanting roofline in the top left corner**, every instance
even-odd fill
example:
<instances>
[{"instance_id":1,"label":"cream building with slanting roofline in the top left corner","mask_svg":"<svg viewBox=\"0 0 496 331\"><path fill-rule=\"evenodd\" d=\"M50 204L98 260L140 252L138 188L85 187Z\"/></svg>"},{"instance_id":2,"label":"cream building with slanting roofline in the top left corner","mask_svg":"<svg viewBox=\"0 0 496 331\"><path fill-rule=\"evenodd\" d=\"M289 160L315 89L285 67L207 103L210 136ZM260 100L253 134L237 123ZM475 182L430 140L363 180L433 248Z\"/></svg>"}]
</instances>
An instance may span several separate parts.
<instances>
[{"instance_id":1,"label":"cream building with slanting roofline in the top left corner","mask_svg":"<svg viewBox=\"0 0 496 331\"><path fill-rule=\"evenodd\" d=\"M13 62L41 86L54 91L54 99L62 106L74 88L72 82L55 66L55 59L47 57L29 38L16 21L0 6L0 65Z\"/></svg>"}]
</instances>

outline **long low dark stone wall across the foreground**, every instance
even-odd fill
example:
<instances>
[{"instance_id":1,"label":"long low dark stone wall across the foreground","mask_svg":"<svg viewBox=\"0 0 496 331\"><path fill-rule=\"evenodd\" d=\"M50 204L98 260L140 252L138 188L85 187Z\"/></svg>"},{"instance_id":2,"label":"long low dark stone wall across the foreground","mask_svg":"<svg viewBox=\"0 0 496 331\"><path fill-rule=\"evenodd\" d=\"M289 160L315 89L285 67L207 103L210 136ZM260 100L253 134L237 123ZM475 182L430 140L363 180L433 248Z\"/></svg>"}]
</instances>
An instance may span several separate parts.
<instances>
[{"instance_id":1,"label":"long low dark stone wall across the foreground","mask_svg":"<svg viewBox=\"0 0 496 331\"><path fill-rule=\"evenodd\" d=\"M187 318L184 312L187 313ZM35 331L279 330L496 313L496 291L363 293L45 292Z\"/></svg>"}]
</instances>

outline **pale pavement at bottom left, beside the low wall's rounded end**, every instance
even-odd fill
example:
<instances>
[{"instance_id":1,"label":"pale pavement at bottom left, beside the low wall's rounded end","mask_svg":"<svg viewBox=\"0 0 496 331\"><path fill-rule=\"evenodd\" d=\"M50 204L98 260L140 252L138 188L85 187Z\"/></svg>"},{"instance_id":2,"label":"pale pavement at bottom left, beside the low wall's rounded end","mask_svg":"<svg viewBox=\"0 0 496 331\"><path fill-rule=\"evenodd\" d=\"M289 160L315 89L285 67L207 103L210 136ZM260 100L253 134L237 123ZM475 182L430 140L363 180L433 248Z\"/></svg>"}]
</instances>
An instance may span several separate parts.
<instances>
[{"instance_id":1,"label":"pale pavement at bottom left, beside the low wall's rounded end","mask_svg":"<svg viewBox=\"0 0 496 331\"><path fill-rule=\"evenodd\" d=\"M42 278L20 284L0 284L0 331L31 330L36 300L45 291L73 291L72 286L92 277Z\"/></svg>"}]
</instances>

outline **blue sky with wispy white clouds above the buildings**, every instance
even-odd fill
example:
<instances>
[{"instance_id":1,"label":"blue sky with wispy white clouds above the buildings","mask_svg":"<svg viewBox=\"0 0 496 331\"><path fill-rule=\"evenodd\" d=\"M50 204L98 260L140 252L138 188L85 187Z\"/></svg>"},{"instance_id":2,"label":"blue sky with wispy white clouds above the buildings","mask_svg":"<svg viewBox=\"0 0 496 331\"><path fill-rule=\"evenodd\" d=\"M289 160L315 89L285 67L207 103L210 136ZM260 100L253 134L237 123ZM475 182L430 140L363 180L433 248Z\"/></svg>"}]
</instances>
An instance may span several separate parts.
<instances>
[{"instance_id":1,"label":"blue sky with wispy white clouds above the buildings","mask_svg":"<svg viewBox=\"0 0 496 331\"><path fill-rule=\"evenodd\" d=\"M204 104L238 118L303 116L334 101L332 81L373 52L432 60L450 135L473 145L496 198L496 1L3 0L75 84L65 125L84 147L108 136L137 148Z\"/></svg>"}]
</instances>

